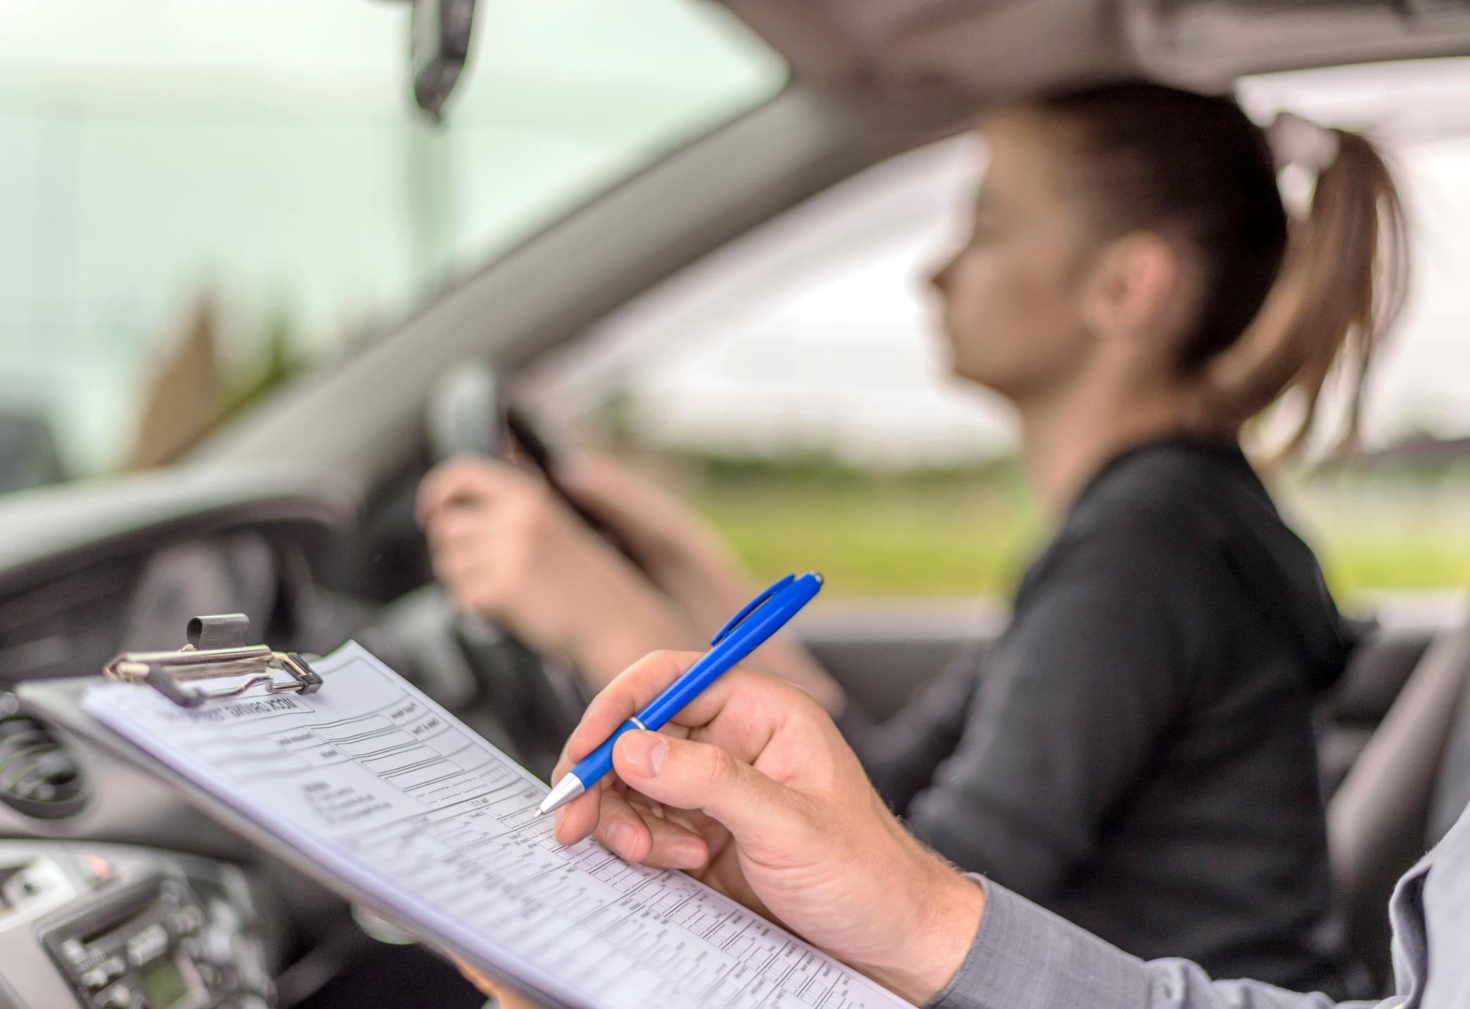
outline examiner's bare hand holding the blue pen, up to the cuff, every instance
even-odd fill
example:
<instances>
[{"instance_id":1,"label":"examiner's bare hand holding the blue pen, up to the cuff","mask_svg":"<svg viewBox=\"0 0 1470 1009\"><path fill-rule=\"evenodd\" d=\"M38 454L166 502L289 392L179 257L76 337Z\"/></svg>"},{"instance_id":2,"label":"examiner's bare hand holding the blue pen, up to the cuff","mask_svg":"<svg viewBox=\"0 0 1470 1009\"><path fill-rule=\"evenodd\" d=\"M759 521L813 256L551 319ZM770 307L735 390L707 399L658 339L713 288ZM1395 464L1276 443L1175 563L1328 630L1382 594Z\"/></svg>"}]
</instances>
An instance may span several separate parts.
<instances>
[{"instance_id":1,"label":"examiner's bare hand holding the blue pen, up to the cuff","mask_svg":"<svg viewBox=\"0 0 1470 1009\"><path fill-rule=\"evenodd\" d=\"M564 774L698 655L656 652L610 683L567 740ZM807 693L731 670L663 731L629 731L606 778L557 811L626 859L682 868L916 1003L975 939L983 893L883 806Z\"/></svg>"}]
</instances>

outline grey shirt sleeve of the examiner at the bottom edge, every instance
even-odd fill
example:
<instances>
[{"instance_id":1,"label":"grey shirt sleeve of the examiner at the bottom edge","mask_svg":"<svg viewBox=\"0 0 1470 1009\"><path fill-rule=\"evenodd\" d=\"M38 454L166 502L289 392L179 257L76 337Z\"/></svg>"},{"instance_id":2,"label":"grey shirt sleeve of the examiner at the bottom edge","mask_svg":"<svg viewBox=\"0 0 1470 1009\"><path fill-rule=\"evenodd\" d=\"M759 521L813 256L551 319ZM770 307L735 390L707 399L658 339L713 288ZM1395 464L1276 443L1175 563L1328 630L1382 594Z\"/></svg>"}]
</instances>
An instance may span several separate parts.
<instances>
[{"instance_id":1,"label":"grey shirt sleeve of the examiner at the bottom edge","mask_svg":"<svg viewBox=\"0 0 1470 1009\"><path fill-rule=\"evenodd\" d=\"M1213 981L1188 961L1141 961L1005 887L954 980L929 1009L1391 1009L1401 999L1335 1003L1260 981Z\"/></svg>"}]
</instances>

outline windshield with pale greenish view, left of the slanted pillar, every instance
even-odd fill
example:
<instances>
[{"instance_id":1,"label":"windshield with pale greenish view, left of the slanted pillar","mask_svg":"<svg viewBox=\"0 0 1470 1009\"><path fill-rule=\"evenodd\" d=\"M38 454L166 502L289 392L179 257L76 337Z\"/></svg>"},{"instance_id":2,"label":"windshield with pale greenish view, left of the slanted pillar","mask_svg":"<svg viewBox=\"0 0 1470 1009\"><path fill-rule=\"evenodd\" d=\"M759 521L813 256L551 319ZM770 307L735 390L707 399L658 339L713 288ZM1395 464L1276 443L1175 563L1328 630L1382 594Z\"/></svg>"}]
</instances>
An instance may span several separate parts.
<instances>
[{"instance_id":1,"label":"windshield with pale greenish view, left of the slanted pillar","mask_svg":"<svg viewBox=\"0 0 1470 1009\"><path fill-rule=\"evenodd\" d=\"M435 128L409 15L7 4L0 491L166 461L785 82L717 4L490 0Z\"/></svg>"}]
</instances>

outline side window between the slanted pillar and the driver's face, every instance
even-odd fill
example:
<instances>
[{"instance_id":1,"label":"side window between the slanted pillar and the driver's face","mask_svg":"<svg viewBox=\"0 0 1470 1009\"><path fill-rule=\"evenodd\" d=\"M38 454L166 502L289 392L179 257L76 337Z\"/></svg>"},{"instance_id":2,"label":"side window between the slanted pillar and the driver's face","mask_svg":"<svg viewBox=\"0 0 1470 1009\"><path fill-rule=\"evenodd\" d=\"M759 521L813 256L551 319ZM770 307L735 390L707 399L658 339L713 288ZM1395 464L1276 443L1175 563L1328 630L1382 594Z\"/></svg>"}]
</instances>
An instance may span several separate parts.
<instances>
[{"instance_id":1,"label":"side window between the slanted pillar and the driver's face","mask_svg":"<svg viewBox=\"0 0 1470 1009\"><path fill-rule=\"evenodd\" d=\"M983 151L954 138L759 228L542 361L526 392L682 491L761 577L1004 595L1033 535L1008 413L950 376L928 278Z\"/></svg>"}]
</instances>

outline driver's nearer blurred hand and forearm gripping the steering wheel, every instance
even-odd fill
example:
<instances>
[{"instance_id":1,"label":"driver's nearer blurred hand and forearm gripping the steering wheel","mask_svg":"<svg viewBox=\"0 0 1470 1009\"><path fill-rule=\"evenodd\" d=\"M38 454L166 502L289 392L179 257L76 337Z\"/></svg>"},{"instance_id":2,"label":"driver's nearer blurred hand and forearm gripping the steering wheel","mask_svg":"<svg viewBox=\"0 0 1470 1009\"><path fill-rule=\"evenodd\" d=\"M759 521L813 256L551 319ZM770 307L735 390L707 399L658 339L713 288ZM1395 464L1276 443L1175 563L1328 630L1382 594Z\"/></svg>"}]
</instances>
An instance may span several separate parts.
<instances>
[{"instance_id":1,"label":"driver's nearer blurred hand and forearm gripping the steering wheel","mask_svg":"<svg viewBox=\"0 0 1470 1009\"><path fill-rule=\"evenodd\" d=\"M459 457L419 486L434 574L454 601L601 687L654 642L694 643L673 607L541 477Z\"/></svg>"}]
</instances>

